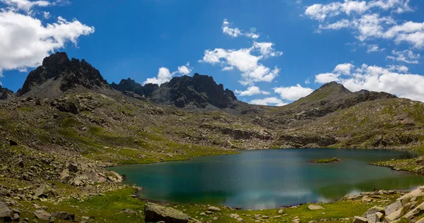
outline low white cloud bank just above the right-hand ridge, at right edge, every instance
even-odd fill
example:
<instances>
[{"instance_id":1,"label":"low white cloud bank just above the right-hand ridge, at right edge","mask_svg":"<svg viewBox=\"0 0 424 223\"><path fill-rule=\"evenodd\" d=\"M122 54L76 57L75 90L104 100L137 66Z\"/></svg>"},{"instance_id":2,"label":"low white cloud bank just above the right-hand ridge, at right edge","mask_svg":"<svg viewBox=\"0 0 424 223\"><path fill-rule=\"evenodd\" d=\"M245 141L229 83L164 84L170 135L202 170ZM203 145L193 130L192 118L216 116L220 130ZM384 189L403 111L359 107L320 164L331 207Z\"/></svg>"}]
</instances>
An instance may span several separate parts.
<instances>
[{"instance_id":1,"label":"low white cloud bank just above the right-hand ridge, at right edge","mask_svg":"<svg viewBox=\"0 0 424 223\"><path fill-rule=\"evenodd\" d=\"M326 76L326 78L323 78ZM331 79L343 84L351 91L372 90L389 92L398 97L424 102L424 76L408 73L406 66L369 66L354 67L351 75L343 73L322 73L315 76L315 82L326 83ZM329 78L330 77L330 78Z\"/></svg>"}]
</instances>

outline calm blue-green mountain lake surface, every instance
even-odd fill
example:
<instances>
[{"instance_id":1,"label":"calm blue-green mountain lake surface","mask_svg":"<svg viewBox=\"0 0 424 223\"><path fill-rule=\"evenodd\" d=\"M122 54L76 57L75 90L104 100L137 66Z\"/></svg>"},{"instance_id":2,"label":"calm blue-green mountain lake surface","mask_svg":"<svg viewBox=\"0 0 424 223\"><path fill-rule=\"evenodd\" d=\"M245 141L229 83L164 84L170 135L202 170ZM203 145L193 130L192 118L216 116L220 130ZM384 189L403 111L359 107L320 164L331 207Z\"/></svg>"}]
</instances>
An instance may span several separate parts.
<instances>
[{"instance_id":1,"label":"calm blue-green mountain lake surface","mask_svg":"<svg viewBox=\"0 0 424 223\"><path fill-rule=\"evenodd\" d=\"M368 165L414 157L391 150L288 149L241 151L240 155L112 167L126 183L142 186L141 198L170 203L204 203L248 209L328 202L347 194L410 189L424 177ZM312 159L338 157L340 163Z\"/></svg>"}]
</instances>

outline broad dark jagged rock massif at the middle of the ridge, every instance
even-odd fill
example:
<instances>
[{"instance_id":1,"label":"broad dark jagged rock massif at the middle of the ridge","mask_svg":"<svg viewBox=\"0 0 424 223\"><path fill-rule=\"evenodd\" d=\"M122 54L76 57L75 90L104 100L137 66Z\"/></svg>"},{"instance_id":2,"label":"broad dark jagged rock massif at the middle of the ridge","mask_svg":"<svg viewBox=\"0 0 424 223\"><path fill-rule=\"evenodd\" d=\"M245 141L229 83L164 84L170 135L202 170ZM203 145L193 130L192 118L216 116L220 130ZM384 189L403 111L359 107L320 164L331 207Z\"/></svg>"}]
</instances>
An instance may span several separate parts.
<instances>
[{"instance_id":1,"label":"broad dark jagged rock massif at the middle of the ridge","mask_svg":"<svg viewBox=\"0 0 424 223\"><path fill-rule=\"evenodd\" d=\"M222 84L216 84L210 76L194 73L193 77L175 77L170 82L160 85L151 99L158 103L174 104L177 107L187 107L189 104L206 108L212 104L219 109L228 108L236 101L234 92L225 89Z\"/></svg>"}]
</instances>

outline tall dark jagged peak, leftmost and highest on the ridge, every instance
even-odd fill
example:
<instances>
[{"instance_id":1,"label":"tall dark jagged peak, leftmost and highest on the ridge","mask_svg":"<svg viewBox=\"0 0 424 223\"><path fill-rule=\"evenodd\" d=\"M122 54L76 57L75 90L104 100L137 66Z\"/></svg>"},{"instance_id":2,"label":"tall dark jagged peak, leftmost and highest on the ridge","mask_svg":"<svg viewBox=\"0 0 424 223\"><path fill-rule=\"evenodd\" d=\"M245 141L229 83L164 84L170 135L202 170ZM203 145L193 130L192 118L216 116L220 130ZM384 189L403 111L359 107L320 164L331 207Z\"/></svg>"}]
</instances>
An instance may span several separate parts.
<instances>
[{"instance_id":1,"label":"tall dark jagged peak, leftmost and highest on the ridge","mask_svg":"<svg viewBox=\"0 0 424 223\"><path fill-rule=\"evenodd\" d=\"M66 91L81 85L84 88L109 88L100 72L88 64L84 59L69 60L66 53L57 52L46 57L35 71L31 71L18 91L18 95L24 95L35 85L41 85L47 80L61 77L60 90Z\"/></svg>"}]
</instances>

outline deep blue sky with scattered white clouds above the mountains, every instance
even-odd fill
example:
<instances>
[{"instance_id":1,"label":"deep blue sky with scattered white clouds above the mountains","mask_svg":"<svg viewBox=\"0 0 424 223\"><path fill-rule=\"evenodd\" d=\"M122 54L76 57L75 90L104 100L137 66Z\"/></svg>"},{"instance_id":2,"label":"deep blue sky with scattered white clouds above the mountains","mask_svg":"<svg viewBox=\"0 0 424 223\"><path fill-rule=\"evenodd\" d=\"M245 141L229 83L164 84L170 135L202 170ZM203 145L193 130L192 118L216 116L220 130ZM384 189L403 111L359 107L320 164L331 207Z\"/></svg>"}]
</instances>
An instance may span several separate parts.
<instances>
[{"instance_id":1,"label":"deep blue sky with scattered white clouds above the mountains","mask_svg":"<svg viewBox=\"0 0 424 223\"><path fill-rule=\"evenodd\" d=\"M330 81L424 102L422 0L0 0L0 8L0 85L14 91L59 51L109 83L200 73L252 104L288 104Z\"/></svg>"}]
</instances>

